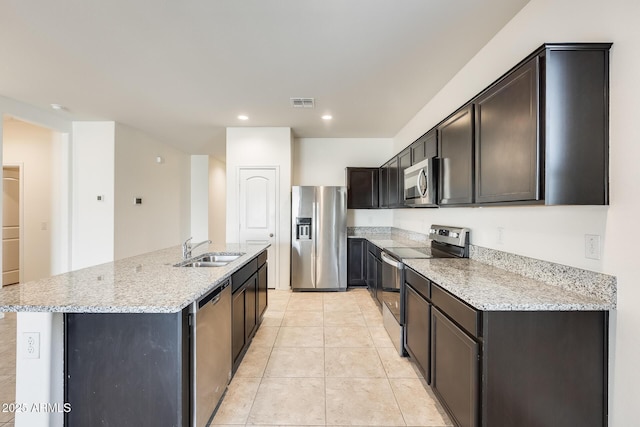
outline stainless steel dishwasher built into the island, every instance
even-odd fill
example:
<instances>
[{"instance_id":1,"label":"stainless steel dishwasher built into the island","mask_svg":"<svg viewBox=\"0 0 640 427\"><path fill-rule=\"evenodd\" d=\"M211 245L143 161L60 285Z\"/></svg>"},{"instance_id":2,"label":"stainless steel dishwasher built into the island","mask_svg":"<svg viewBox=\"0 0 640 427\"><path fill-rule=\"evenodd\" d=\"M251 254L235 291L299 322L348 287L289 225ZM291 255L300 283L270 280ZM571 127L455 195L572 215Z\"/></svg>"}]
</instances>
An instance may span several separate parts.
<instances>
[{"instance_id":1,"label":"stainless steel dishwasher built into the island","mask_svg":"<svg viewBox=\"0 0 640 427\"><path fill-rule=\"evenodd\" d=\"M191 424L207 426L231 379L231 286L191 305Z\"/></svg>"}]
</instances>

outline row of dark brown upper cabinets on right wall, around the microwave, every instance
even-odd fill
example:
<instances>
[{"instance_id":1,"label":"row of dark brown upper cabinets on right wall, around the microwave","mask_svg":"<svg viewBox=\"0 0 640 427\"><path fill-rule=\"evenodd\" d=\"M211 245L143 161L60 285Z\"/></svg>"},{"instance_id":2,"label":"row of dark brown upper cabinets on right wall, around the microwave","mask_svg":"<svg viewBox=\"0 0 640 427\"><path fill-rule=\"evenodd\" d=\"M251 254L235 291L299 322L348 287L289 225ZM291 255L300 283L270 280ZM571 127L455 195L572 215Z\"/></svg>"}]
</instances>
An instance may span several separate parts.
<instances>
[{"instance_id":1,"label":"row of dark brown upper cabinets on right wall, around the microwave","mask_svg":"<svg viewBox=\"0 0 640 427\"><path fill-rule=\"evenodd\" d=\"M609 204L611 43L547 43L379 168L379 207L404 169L438 159L438 204Z\"/></svg>"}]
</instances>

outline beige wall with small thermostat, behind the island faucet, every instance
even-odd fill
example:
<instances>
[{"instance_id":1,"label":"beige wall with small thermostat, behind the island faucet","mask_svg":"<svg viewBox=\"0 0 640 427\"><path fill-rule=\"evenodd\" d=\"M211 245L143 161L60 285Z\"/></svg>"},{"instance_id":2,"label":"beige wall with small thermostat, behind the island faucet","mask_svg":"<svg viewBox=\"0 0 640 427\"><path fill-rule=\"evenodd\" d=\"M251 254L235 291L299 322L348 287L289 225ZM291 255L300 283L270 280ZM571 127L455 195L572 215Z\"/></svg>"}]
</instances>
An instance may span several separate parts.
<instances>
[{"instance_id":1,"label":"beige wall with small thermostat, behind the island faucet","mask_svg":"<svg viewBox=\"0 0 640 427\"><path fill-rule=\"evenodd\" d=\"M114 161L115 259L178 245L189 237L190 156L117 124ZM142 204L134 203L136 197Z\"/></svg>"}]
</instances>

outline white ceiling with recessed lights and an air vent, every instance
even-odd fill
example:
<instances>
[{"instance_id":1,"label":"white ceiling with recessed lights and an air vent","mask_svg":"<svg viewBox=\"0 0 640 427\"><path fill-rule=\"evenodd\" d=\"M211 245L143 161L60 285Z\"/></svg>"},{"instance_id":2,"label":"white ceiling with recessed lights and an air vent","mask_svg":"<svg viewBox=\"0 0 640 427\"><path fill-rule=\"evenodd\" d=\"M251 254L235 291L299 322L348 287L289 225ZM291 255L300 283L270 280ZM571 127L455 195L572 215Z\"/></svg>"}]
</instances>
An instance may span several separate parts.
<instances>
[{"instance_id":1,"label":"white ceiling with recessed lights and an air vent","mask_svg":"<svg viewBox=\"0 0 640 427\"><path fill-rule=\"evenodd\" d=\"M527 2L2 0L0 95L219 157L233 126L393 137Z\"/></svg>"}]
</instances>

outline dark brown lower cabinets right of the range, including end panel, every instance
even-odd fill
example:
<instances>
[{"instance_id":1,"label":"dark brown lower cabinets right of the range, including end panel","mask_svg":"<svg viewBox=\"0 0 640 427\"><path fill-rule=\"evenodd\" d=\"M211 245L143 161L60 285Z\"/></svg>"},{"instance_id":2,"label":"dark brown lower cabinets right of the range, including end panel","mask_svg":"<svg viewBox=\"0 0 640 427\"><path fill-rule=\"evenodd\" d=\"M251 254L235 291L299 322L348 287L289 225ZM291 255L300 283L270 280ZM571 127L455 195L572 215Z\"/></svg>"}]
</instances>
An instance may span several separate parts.
<instances>
[{"instance_id":1,"label":"dark brown lower cabinets right of the range, including end panel","mask_svg":"<svg viewBox=\"0 0 640 427\"><path fill-rule=\"evenodd\" d=\"M607 311L477 310L411 269L405 294L405 347L456 426L608 425Z\"/></svg>"}]
</instances>

